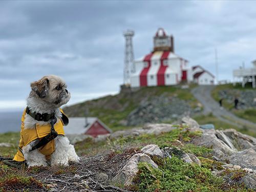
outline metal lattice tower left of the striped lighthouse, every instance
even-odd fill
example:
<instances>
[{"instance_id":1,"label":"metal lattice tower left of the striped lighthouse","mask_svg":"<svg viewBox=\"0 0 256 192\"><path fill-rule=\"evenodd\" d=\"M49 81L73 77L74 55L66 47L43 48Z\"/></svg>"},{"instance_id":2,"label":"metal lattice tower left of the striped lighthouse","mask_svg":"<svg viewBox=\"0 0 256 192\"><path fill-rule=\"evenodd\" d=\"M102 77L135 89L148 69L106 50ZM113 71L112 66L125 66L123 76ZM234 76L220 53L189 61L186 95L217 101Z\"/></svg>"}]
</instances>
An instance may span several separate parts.
<instances>
[{"instance_id":1,"label":"metal lattice tower left of the striped lighthouse","mask_svg":"<svg viewBox=\"0 0 256 192\"><path fill-rule=\"evenodd\" d=\"M130 84L130 74L135 72L135 66L133 65L133 41L134 31L127 30L123 32L125 37L125 52L124 52L124 69L123 69L123 84Z\"/></svg>"}]
</instances>

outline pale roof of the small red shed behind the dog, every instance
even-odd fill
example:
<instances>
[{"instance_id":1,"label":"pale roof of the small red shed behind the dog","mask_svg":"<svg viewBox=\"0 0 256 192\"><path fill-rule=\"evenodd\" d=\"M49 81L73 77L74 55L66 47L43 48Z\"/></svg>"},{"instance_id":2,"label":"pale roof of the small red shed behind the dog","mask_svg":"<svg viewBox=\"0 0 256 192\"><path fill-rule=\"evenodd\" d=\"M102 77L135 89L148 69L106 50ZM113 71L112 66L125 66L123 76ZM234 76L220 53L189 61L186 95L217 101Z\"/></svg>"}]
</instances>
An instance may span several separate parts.
<instances>
[{"instance_id":1,"label":"pale roof of the small red shed behind the dog","mask_svg":"<svg viewBox=\"0 0 256 192\"><path fill-rule=\"evenodd\" d=\"M97 117L87 117L87 126L85 117L70 117L69 124L64 126L65 134L84 134L96 121L98 121L98 123L100 123L106 130L112 133L112 130Z\"/></svg>"}]
</instances>

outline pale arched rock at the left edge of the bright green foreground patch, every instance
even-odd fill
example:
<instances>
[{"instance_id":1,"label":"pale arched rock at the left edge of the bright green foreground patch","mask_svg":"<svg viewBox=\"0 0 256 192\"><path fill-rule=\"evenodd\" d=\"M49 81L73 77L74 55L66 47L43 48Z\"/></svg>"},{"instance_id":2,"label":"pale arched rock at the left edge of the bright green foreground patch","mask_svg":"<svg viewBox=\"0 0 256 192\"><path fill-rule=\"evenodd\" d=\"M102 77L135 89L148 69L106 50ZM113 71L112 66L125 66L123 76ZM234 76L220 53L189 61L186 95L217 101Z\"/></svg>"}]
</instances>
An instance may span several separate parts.
<instances>
[{"instance_id":1,"label":"pale arched rock at the left edge of the bright green foreground patch","mask_svg":"<svg viewBox=\"0 0 256 192\"><path fill-rule=\"evenodd\" d=\"M138 172L138 163L139 162L147 162L152 165L153 168L158 168L157 164L152 161L152 159L145 154L135 154L133 157L129 159L129 161L124 165L121 169L120 173L118 173L113 180L118 184L122 184L124 186L129 186L133 181L133 178L136 176Z\"/></svg>"}]
</instances>

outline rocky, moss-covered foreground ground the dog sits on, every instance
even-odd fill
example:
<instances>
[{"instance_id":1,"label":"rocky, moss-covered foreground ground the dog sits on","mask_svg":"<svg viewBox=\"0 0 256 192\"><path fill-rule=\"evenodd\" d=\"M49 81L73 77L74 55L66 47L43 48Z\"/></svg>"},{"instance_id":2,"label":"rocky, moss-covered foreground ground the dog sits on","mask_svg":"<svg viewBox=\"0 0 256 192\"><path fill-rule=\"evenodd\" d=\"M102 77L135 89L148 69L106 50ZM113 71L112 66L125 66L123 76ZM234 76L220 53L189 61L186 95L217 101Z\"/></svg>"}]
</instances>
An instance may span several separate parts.
<instances>
[{"instance_id":1,"label":"rocky, moss-covered foreground ground the dog sits on","mask_svg":"<svg viewBox=\"0 0 256 192\"><path fill-rule=\"evenodd\" d=\"M70 140L79 163L17 169L0 162L0 191L256 191L256 139L232 129L202 130L184 117Z\"/></svg>"}]
</instances>

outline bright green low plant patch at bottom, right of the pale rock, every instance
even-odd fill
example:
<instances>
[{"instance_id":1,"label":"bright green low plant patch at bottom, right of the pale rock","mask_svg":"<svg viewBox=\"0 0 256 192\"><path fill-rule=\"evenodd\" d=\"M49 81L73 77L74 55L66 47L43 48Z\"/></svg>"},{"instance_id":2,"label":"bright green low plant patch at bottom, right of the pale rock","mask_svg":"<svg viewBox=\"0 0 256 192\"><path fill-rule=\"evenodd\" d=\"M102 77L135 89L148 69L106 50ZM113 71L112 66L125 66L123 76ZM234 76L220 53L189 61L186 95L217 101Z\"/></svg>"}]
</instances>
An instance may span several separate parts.
<instances>
[{"instance_id":1,"label":"bright green low plant patch at bottom, right of the pale rock","mask_svg":"<svg viewBox=\"0 0 256 192\"><path fill-rule=\"evenodd\" d=\"M223 183L208 169L184 163L176 156L164 161L159 169L147 163L139 164L139 172L133 180L137 191L216 191Z\"/></svg>"}]
</instances>

